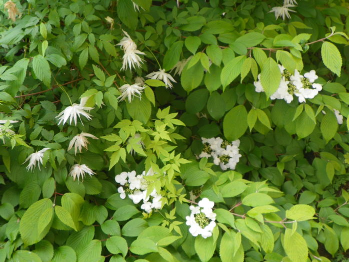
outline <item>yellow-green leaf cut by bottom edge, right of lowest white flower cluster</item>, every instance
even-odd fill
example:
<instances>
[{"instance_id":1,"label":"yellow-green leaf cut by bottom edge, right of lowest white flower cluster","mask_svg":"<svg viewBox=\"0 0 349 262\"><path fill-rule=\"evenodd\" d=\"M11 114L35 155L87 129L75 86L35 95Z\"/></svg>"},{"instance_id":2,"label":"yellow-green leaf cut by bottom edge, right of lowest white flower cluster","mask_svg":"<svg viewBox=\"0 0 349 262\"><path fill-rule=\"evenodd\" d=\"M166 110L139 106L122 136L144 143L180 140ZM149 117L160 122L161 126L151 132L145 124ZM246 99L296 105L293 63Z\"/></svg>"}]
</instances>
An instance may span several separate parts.
<instances>
[{"instance_id":1,"label":"yellow-green leaf cut by bottom edge, right of lowest white flower cluster","mask_svg":"<svg viewBox=\"0 0 349 262\"><path fill-rule=\"evenodd\" d=\"M222 262L243 262L244 254L242 245L235 245L237 234L230 230L225 232L219 246L219 257Z\"/></svg>"}]
</instances>

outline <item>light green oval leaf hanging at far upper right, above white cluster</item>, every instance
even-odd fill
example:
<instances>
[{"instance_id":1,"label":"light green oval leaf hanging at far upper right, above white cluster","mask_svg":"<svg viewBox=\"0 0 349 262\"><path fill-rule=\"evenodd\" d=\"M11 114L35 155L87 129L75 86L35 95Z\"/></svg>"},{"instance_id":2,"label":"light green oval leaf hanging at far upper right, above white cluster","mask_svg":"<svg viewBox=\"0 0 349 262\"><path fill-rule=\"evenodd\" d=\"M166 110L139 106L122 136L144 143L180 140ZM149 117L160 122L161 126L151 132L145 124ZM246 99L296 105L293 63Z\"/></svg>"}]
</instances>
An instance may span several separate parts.
<instances>
[{"instance_id":1,"label":"light green oval leaf hanging at far upper right, above white cluster","mask_svg":"<svg viewBox=\"0 0 349 262\"><path fill-rule=\"evenodd\" d=\"M338 48L331 42L323 42L321 45L321 57L324 65L337 76L340 76L342 60Z\"/></svg>"}]
</instances>

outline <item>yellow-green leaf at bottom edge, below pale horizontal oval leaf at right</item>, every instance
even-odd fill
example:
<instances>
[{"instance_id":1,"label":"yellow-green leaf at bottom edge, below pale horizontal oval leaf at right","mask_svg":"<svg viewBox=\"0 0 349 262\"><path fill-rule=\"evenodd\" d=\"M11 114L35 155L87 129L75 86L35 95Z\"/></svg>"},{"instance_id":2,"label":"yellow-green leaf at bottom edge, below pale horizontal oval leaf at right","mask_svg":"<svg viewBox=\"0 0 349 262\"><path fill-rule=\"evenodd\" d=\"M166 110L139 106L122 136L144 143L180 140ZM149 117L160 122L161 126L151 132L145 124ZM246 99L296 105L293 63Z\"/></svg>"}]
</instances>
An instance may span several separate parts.
<instances>
[{"instance_id":1,"label":"yellow-green leaf at bottom edge, below pale horizontal oval leaf at right","mask_svg":"<svg viewBox=\"0 0 349 262\"><path fill-rule=\"evenodd\" d=\"M306 262L308 247L305 240L298 232L286 229L283 237L283 249L292 262Z\"/></svg>"}]
</instances>

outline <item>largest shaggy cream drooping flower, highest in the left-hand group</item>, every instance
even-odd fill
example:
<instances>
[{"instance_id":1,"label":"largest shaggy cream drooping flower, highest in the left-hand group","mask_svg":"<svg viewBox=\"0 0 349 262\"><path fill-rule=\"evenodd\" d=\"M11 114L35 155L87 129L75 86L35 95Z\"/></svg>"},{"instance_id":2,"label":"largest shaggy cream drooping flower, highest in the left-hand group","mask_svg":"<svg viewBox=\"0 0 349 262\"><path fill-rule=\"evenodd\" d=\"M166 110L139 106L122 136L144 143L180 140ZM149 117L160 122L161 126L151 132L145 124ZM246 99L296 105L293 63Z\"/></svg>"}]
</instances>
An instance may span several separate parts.
<instances>
[{"instance_id":1,"label":"largest shaggy cream drooping flower, highest in the left-hand group","mask_svg":"<svg viewBox=\"0 0 349 262\"><path fill-rule=\"evenodd\" d=\"M139 57L138 54L145 54L139 50L137 50L137 45L135 42L131 39L131 37L128 35L127 32L122 30L122 32L126 35L124 36L121 41L116 44L120 45L121 48L123 49L123 56L122 56L122 67L121 69L129 69L140 67L140 63L142 62L142 59Z\"/></svg>"}]
</instances>

